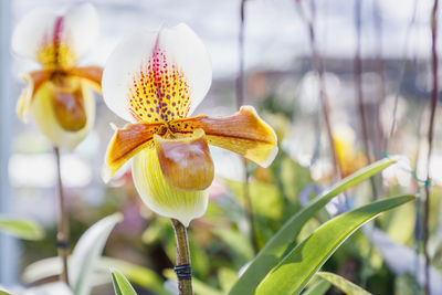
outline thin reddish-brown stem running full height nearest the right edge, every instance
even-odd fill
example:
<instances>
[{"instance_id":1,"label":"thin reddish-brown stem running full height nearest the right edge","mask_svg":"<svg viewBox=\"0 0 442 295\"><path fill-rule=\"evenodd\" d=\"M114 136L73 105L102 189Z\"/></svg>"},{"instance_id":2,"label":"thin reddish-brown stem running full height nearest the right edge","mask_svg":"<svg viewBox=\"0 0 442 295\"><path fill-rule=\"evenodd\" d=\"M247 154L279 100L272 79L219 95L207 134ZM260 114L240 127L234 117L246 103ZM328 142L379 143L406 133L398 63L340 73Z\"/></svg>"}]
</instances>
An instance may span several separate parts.
<instances>
[{"instance_id":1,"label":"thin reddish-brown stem running full height nearest the right edge","mask_svg":"<svg viewBox=\"0 0 442 295\"><path fill-rule=\"evenodd\" d=\"M425 257L425 294L430 294L430 254L428 249L428 241L430 234L430 159L433 146L433 134L434 134L434 117L435 117L435 108L438 105L438 93L439 93L439 84L438 84L438 51L436 51L436 36L438 36L438 4L439 1L434 0L433 9L431 11L431 36L432 36L432 45L431 45L431 70L433 77L433 88L431 91L431 115L429 122L429 130L428 130L428 154L427 154L427 178L425 178L425 202L423 207L423 255Z\"/></svg>"}]
</instances>

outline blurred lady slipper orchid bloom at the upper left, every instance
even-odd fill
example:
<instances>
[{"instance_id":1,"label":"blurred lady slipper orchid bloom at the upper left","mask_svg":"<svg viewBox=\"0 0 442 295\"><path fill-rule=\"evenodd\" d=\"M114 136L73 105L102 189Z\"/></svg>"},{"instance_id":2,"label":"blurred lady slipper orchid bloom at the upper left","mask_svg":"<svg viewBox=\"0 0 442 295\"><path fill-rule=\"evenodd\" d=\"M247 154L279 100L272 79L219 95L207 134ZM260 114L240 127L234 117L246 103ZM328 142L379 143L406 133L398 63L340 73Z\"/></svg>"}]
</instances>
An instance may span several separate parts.
<instances>
[{"instance_id":1,"label":"blurred lady slipper orchid bloom at the upper left","mask_svg":"<svg viewBox=\"0 0 442 295\"><path fill-rule=\"evenodd\" d=\"M12 35L12 50L41 64L23 74L28 87L17 104L18 116L31 112L42 133L57 147L73 149L93 126L95 103L91 89L101 92L103 70L76 66L98 34L98 18L91 4L64 14L34 10Z\"/></svg>"}]
</instances>

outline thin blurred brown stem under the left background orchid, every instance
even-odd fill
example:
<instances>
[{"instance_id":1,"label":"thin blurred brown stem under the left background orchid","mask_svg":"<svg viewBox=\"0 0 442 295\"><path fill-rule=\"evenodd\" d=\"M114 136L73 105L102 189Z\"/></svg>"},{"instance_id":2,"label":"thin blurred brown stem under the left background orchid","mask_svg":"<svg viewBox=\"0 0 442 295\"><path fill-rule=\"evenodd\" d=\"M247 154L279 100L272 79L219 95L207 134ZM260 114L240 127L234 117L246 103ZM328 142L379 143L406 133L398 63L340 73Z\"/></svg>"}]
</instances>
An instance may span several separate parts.
<instances>
[{"instance_id":1,"label":"thin blurred brown stem under the left background orchid","mask_svg":"<svg viewBox=\"0 0 442 295\"><path fill-rule=\"evenodd\" d=\"M60 149L54 147L54 155L56 161L56 188L59 194L59 229L56 233L56 246L59 256L62 259L62 273L60 274L60 281L63 281L69 285L69 273L67 273L67 255L69 255L69 236L70 236L70 223L69 214L66 210L66 203L64 199L63 182L60 166Z\"/></svg>"}]
</instances>

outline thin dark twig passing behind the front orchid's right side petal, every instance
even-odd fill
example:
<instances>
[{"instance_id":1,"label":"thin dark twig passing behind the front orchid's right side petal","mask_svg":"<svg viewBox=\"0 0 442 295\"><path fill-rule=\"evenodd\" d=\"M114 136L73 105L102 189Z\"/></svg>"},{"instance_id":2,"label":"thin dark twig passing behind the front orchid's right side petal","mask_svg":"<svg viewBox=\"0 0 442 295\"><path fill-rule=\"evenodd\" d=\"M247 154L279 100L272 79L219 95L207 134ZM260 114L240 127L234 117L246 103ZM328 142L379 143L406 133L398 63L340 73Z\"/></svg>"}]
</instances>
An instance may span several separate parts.
<instances>
[{"instance_id":1,"label":"thin dark twig passing behind the front orchid's right side petal","mask_svg":"<svg viewBox=\"0 0 442 295\"><path fill-rule=\"evenodd\" d=\"M240 30L238 36L238 50L239 50L239 74L236 78L236 107L238 109L244 105L245 102L245 76L244 76L244 24L245 24L245 2L241 0L240 7ZM255 253L259 252L257 239L255 232L255 221L252 208L252 200L249 190L249 170L248 160L243 161L244 167L244 183L243 183L243 197L244 197L244 211L245 217L249 221L249 235L250 241Z\"/></svg>"}]
</instances>

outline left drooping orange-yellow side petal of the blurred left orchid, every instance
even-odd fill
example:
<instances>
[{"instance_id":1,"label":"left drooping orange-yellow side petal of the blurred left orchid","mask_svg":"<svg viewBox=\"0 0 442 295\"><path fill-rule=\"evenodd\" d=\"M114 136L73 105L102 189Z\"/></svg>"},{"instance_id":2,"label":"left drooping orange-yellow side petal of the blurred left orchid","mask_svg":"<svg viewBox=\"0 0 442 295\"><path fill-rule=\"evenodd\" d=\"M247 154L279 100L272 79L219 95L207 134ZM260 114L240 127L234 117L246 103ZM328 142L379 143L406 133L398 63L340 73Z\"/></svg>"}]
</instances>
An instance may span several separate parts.
<instances>
[{"instance_id":1,"label":"left drooping orange-yellow side petal of the blurred left orchid","mask_svg":"<svg viewBox=\"0 0 442 295\"><path fill-rule=\"evenodd\" d=\"M21 92L15 106L17 115L21 120L28 120L28 113L35 93L44 82L51 78L52 74L52 70L41 70L21 75L28 82L28 87Z\"/></svg>"}]
</instances>

